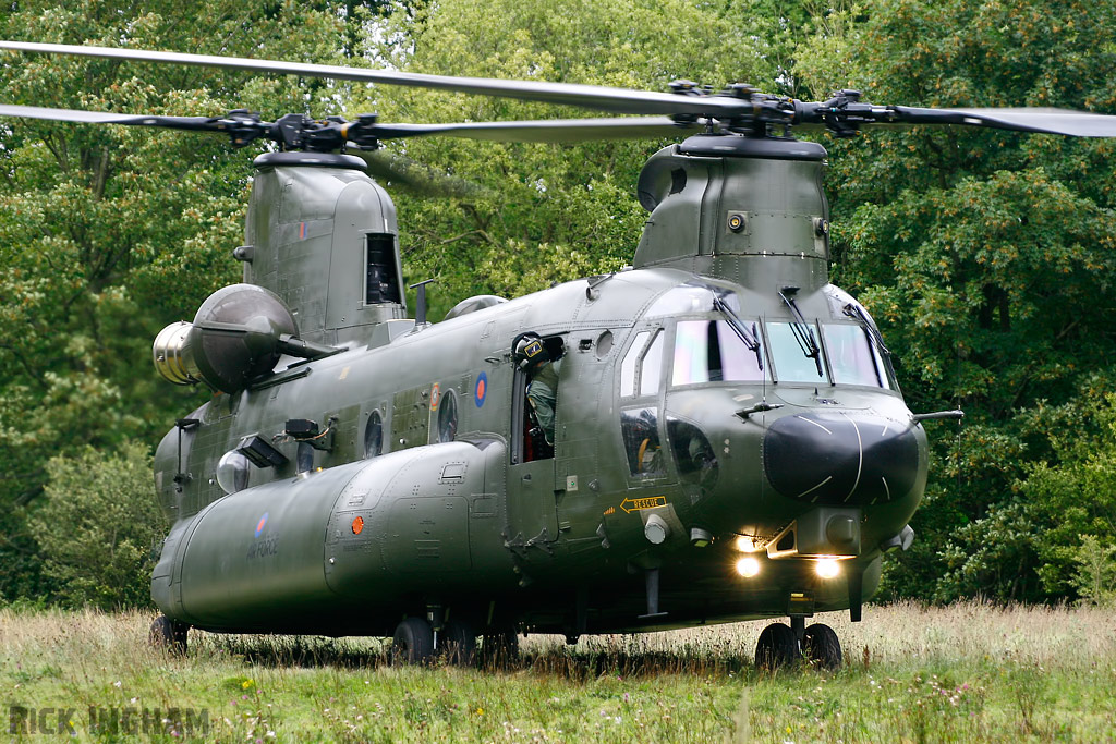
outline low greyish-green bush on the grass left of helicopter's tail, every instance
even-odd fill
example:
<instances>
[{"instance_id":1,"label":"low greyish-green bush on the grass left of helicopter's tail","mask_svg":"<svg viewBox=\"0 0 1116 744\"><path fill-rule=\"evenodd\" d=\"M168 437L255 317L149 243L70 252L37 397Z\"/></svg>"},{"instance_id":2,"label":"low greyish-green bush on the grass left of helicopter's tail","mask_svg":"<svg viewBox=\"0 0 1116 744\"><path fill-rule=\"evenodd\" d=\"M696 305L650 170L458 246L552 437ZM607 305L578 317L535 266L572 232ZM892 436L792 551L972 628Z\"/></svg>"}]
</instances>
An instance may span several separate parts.
<instances>
[{"instance_id":1,"label":"low greyish-green bush on the grass left of helicopter's tail","mask_svg":"<svg viewBox=\"0 0 1116 744\"><path fill-rule=\"evenodd\" d=\"M125 442L47 463L44 503L29 522L54 599L105 610L151 605L153 549L166 524L152 499L151 455Z\"/></svg>"}]
</instances>

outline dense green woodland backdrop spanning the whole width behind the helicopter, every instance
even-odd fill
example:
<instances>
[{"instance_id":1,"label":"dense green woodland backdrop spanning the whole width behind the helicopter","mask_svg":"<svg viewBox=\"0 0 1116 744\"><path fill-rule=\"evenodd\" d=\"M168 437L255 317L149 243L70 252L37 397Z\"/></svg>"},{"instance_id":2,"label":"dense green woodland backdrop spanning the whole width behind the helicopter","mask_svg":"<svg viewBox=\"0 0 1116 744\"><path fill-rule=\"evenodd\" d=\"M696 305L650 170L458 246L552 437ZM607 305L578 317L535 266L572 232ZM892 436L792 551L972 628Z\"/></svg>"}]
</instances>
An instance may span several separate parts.
<instances>
[{"instance_id":1,"label":"dense green woodland backdrop spanning the whole width behind the helicopter","mask_svg":"<svg viewBox=\"0 0 1116 744\"><path fill-rule=\"evenodd\" d=\"M647 89L690 78L804 98L856 87L881 103L1116 113L1107 3L217 0L198 19L200 8L13 2L0 37ZM129 113L584 115L9 54L0 81L4 103ZM958 429L927 424L932 480L913 523L918 539L889 562L885 593L1110 598L1116 143L960 128L825 142L834 280L879 321L911 407L968 414ZM655 148L392 145L465 184L437 199L395 192L407 278L439 279L437 317L470 294L511 296L623 265L645 219L635 180ZM51 494L83 467L90 487L98 482L87 446L133 462L129 441L153 443L192 406L194 393L146 371L150 344L235 281L230 250L240 242L250 155L193 135L0 123L0 597L73 591L76 579L57 568L58 547L40 529L56 508Z\"/></svg>"}]
</instances>

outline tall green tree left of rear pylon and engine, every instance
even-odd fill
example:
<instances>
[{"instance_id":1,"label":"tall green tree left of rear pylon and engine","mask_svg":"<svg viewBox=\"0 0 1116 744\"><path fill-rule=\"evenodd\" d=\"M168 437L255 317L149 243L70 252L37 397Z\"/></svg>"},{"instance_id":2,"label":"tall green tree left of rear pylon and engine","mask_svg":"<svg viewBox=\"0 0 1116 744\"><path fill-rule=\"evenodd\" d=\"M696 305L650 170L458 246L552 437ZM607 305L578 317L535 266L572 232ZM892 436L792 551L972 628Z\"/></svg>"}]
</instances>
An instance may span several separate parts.
<instances>
[{"instance_id":1,"label":"tall green tree left of rear pylon and engine","mask_svg":"<svg viewBox=\"0 0 1116 744\"><path fill-rule=\"evenodd\" d=\"M204 22L199 13L204 12ZM0 37L334 61L339 20L296 3L20 2ZM4 102L273 118L335 91L289 78L112 60L0 56ZM55 455L144 441L200 400L146 366L166 323L237 280L250 153L203 135L0 123L0 596L42 591L22 530Z\"/></svg>"}]
</instances>

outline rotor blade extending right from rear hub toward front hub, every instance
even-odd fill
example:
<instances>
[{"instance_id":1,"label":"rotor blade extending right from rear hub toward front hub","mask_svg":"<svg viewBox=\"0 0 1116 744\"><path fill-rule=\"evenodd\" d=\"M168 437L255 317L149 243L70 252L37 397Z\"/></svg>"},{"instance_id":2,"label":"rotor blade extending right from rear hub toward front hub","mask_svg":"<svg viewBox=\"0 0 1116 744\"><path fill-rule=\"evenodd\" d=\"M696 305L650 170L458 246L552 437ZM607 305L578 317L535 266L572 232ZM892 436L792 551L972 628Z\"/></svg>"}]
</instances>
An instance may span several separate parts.
<instances>
[{"instance_id":1,"label":"rotor blade extending right from rear hub toward front hub","mask_svg":"<svg viewBox=\"0 0 1116 744\"><path fill-rule=\"evenodd\" d=\"M646 116L474 124L377 124L375 133L379 139L443 135L493 142L564 143L674 137L691 126L675 124L665 116Z\"/></svg>"}]
</instances>

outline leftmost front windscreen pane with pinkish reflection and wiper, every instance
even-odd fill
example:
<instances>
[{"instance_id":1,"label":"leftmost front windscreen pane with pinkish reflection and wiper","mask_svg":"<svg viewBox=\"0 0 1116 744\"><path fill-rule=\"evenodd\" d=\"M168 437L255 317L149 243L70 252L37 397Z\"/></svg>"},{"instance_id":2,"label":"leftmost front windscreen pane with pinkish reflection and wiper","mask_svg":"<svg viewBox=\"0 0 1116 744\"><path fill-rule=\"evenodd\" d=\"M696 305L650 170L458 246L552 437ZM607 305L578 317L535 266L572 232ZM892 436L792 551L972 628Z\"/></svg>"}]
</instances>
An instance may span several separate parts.
<instances>
[{"instance_id":1,"label":"leftmost front windscreen pane with pinkish reflection and wiper","mask_svg":"<svg viewBox=\"0 0 1116 744\"><path fill-rule=\"evenodd\" d=\"M762 348L749 349L723 320L682 320L674 334L671 384L759 381L761 355Z\"/></svg>"}]
</instances>

